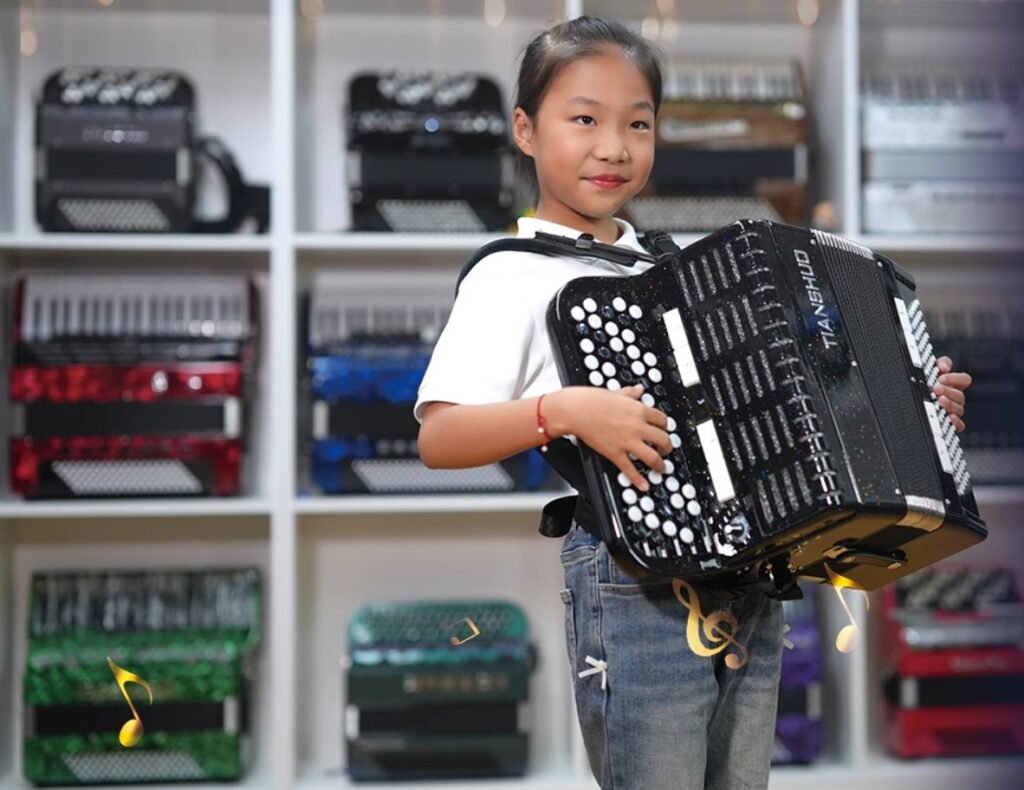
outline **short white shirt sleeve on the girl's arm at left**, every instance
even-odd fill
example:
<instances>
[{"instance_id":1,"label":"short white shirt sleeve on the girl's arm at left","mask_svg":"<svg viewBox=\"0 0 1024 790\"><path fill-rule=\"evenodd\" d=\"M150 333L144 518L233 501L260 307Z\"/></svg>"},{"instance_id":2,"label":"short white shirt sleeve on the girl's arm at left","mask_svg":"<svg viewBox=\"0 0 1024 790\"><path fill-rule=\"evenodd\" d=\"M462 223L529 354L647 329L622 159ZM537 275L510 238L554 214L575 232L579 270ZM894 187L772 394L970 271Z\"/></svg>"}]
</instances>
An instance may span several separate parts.
<instances>
[{"instance_id":1,"label":"short white shirt sleeve on the girl's arm at left","mask_svg":"<svg viewBox=\"0 0 1024 790\"><path fill-rule=\"evenodd\" d=\"M431 402L511 401L529 380L535 319L517 298L517 284L503 277L500 257L481 261L462 282L420 384L413 410L419 422Z\"/></svg>"}]
</instances>

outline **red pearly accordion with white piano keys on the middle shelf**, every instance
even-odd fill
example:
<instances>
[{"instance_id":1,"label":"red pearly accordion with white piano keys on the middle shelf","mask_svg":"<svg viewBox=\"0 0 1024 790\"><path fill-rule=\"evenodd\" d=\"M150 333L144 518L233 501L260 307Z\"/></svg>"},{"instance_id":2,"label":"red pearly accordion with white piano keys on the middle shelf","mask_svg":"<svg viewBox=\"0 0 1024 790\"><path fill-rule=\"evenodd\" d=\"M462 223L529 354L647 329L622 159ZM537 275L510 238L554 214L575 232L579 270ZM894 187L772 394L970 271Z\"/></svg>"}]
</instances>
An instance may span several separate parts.
<instances>
[{"instance_id":1,"label":"red pearly accordion with white piano keys on the middle shelf","mask_svg":"<svg viewBox=\"0 0 1024 790\"><path fill-rule=\"evenodd\" d=\"M237 494L256 305L244 275L20 279L10 379L14 493Z\"/></svg>"}]
</instances>

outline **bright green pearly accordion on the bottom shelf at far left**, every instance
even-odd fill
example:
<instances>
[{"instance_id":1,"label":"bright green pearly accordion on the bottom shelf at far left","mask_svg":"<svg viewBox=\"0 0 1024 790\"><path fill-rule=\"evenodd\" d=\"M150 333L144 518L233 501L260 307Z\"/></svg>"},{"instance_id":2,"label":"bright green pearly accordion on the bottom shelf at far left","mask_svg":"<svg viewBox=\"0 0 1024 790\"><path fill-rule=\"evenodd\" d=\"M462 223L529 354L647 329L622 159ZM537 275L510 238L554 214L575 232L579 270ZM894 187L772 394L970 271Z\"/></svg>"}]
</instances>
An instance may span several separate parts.
<instances>
[{"instance_id":1,"label":"bright green pearly accordion on the bottom shelf at far left","mask_svg":"<svg viewBox=\"0 0 1024 790\"><path fill-rule=\"evenodd\" d=\"M261 638L256 569L33 575L24 676L25 777L36 785L226 781L248 763ZM108 657L153 690L126 684Z\"/></svg>"}]
</instances>

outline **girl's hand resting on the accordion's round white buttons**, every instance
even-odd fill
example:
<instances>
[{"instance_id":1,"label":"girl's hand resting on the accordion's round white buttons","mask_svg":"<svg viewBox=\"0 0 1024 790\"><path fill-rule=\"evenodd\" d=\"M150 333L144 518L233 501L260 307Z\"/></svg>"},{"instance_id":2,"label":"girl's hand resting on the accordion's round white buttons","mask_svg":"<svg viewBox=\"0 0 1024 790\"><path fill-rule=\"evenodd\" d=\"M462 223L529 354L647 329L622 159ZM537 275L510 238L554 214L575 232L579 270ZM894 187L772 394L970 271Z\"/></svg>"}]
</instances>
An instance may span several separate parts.
<instances>
[{"instance_id":1,"label":"girl's hand resting on the accordion's round white buttons","mask_svg":"<svg viewBox=\"0 0 1024 790\"><path fill-rule=\"evenodd\" d=\"M603 387L572 386L562 390L566 433L572 433L592 450L617 466L641 491L650 488L633 460L658 472L665 471L663 456L672 452L665 412L640 403L643 385L612 391Z\"/></svg>"}]
</instances>

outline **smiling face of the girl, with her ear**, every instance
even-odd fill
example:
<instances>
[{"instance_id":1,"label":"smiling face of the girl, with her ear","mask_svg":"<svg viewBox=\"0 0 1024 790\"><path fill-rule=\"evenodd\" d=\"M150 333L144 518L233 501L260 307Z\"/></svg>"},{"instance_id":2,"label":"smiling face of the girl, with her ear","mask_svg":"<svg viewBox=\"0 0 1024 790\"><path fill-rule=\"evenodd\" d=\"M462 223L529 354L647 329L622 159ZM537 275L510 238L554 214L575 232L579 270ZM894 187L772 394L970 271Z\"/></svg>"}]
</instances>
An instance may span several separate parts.
<instances>
[{"instance_id":1,"label":"smiling face of the girl, with her ear","mask_svg":"<svg viewBox=\"0 0 1024 790\"><path fill-rule=\"evenodd\" d=\"M513 116L516 144L532 157L538 216L598 238L647 182L654 161L654 98L643 73L615 49L565 66L537 115Z\"/></svg>"}]
</instances>

